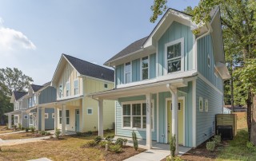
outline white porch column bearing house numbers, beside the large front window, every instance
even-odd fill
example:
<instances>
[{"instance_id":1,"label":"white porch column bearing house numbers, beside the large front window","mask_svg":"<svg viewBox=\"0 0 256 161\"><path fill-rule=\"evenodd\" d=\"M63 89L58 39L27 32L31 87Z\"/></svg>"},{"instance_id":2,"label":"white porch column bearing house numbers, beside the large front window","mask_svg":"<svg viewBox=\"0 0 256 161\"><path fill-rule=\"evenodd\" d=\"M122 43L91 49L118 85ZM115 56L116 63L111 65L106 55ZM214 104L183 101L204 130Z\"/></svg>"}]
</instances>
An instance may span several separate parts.
<instances>
[{"instance_id":1,"label":"white porch column bearing house numbers, beside the large front window","mask_svg":"<svg viewBox=\"0 0 256 161\"><path fill-rule=\"evenodd\" d=\"M151 97L152 95L150 93L146 94L146 147L148 147L148 149L152 148Z\"/></svg>"}]
</instances>

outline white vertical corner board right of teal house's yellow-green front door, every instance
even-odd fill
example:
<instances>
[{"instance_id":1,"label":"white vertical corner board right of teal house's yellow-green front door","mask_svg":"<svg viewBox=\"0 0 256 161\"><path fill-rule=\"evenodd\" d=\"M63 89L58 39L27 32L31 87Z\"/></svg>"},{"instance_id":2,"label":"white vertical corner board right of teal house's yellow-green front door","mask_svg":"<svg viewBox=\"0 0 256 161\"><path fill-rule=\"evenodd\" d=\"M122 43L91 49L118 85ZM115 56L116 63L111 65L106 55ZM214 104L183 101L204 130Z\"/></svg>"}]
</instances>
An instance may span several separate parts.
<instances>
[{"instance_id":1,"label":"white vertical corner board right of teal house's yellow-green front door","mask_svg":"<svg viewBox=\"0 0 256 161\"><path fill-rule=\"evenodd\" d=\"M196 100L196 98L197 98L197 95L196 95L196 89L197 89L197 87L196 87L196 80L194 80L194 81L192 81L192 133L193 133L193 135L192 135L192 145L193 145L193 147L196 147L196 138L197 138L197 136L196 136L196 132L197 132L197 130L196 130L196 120L197 120L197 100Z\"/></svg>"}]
</instances>

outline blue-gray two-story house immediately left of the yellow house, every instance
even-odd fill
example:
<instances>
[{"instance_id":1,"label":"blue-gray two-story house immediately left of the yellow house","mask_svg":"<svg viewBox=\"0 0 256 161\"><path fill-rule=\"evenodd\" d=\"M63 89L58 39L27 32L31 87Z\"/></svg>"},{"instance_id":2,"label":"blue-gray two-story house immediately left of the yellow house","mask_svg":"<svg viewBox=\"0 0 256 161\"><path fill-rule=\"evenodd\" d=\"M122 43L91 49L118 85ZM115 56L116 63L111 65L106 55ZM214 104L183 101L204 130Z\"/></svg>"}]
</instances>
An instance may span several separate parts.
<instances>
[{"instance_id":1,"label":"blue-gray two-story house immediately left of the yellow house","mask_svg":"<svg viewBox=\"0 0 256 161\"><path fill-rule=\"evenodd\" d=\"M50 82L43 85L30 84L26 98L29 127L41 131L54 129L56 89L50 86Z\"/></svg>"}]
</instances>

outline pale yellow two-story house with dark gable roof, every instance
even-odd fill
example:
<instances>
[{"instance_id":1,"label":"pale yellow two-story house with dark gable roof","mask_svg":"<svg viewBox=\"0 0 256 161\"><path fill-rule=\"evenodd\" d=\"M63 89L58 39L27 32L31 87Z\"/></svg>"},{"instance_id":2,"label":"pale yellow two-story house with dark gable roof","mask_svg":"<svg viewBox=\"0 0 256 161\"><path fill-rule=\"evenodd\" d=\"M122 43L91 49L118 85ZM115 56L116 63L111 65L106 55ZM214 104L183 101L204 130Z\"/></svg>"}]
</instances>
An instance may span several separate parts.
<instances>
[{"instance_id":1,"label":"pale yellow two-story house with dark gable roof","mask_svg":"<svg viewBox=\"0 0 256 161\"><path fill-rule=\"evenodd\" d=\"M54 127L66 131L88 132L113 128L114 101L102 102L88 95L114 88L114 71L99 65L62 54L51 85L57 88ZM104 112L99 125L98 112Z\"/></svg>"}]
</instances>

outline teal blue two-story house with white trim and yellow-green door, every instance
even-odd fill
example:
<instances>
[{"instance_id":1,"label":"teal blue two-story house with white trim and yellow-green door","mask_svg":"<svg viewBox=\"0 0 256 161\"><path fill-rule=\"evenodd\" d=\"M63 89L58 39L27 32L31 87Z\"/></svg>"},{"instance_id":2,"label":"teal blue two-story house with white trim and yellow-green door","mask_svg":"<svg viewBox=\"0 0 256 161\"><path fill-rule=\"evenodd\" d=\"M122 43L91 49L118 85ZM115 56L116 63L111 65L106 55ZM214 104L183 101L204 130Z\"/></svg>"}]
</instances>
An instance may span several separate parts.
<instances>
[{"instance_id":1,"label":"teal blue two-story house with white trim and yellow-green door","mask_svg":"<svg viewBox=\"0 0 256 161\"><path fill-rule=\"evenodd\" d=\"M115 71L115 88L94 93L116 100L116 135L197 147L215 132L222 113L225 65L218 8L205 26L189 14L169 9L148 37L134 41L106 61ZM193 30L199 33L194 35Z\"/></svg>"}]
</instances>

